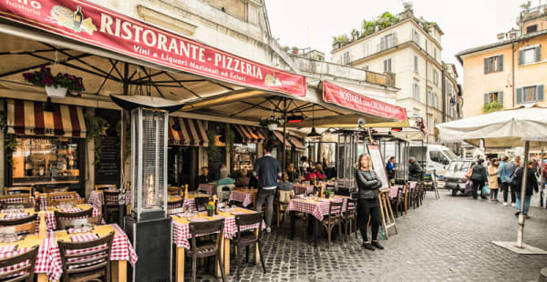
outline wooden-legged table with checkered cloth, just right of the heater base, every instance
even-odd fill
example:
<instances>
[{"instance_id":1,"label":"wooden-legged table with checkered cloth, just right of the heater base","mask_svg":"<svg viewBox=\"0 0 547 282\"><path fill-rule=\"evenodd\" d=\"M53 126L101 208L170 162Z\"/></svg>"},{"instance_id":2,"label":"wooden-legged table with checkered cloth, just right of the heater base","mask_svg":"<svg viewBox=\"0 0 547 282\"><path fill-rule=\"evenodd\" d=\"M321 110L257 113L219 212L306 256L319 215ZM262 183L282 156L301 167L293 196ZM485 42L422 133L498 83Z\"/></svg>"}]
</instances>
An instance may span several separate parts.
<instances>
[{"instance_id":1,"label":"wooden-legged table with checkered cloth, just right of the heater base","mask_svg":"<svg viewBox=\"0 0 547 282\"><path fill-rule=\"evenodd\" d=\"M253 214L256 213L253 210L246 209L243 207L231 207L226 209L219 209L217 215L213 217L208 217L207 212L201 213L181 213L176 215L171 215L172 217L172 240L173 244L176 247L176 267L175 267L175 281L182 282L184 281L184 253L186 249L190 249L190 240L191 234L189 225L192 221L205 221L205 220L216 220L224 219L224 227L222 229L223 239L222 239L222 263L224 268L225 275L230 274L230 244L232 239L237 234L237 226L235 225L235 217L237 215L243 214ZM260 224L244 226L241 227L241 231L255 229L255 233L259 232ZM262 222L262 229L265 229L265 223ZM254 250L254 262L260 263L259 253L257 251L257 246ZM215 260L216 261L216 260ZM220 267L218 263L215 262L215 276L220 277Z\"/></svg>"}]
</instances>

